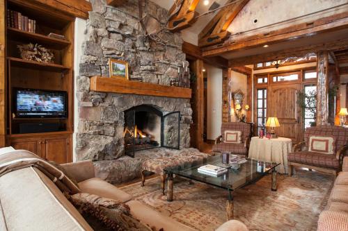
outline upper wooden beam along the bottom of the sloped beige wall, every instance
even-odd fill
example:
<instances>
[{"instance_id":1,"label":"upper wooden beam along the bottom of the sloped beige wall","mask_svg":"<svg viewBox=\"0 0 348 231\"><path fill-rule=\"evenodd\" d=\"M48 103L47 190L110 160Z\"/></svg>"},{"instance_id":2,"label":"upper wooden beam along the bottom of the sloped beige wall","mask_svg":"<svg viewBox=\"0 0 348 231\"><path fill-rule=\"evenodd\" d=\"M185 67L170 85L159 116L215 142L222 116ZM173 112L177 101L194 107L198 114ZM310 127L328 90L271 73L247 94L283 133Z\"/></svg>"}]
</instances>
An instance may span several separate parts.
<instances>
[{"instance_id":1,"label":"upper wooden beam along the bottom of the sloped beige wall","mask_svg":"<svg viewBox=\"0 0 348 231\"><path fill-rule=\"evenodd\" d=\"M230 38L223 45L204 47L202 49L203 56L223 55L231 51L251 49L257 46L263 46L264 44L299 40L301 37L311 37L319 33L338 31L343 28L348 28L348 12L317 19L315 22L305 22L269 33L252 35L237 42L232 41L232 38Z\"/></svg>"}]
</instances>

